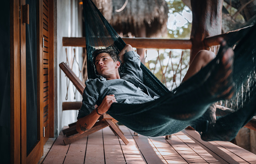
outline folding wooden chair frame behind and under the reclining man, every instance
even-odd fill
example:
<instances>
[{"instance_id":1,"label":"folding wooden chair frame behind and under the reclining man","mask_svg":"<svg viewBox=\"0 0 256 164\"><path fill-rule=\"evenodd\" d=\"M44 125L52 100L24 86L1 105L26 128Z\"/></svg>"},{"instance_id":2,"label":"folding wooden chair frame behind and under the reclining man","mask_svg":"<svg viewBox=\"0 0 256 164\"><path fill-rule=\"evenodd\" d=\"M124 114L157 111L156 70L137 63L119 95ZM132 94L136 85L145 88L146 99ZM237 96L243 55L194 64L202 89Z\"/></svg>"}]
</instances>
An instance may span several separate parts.
<instances>
[{"instance_id":1,"label":"folding wooden chair frame behind and under the reclining man","mask_svg":"<svg viewBox=\"0 0 256 164\"><path fill-rule=\"evenodd\" d=\"M66 74L66 76L69 78L69 80L75 85L75 87L78 89L78 91L83 94L85 89L85 84L75 75L75 73L69 68L69 66L62 62L59 64L60 69ZM82 103L81 103L82 104ZM65 145L68 145L74 141L77 141L89 134L92 134L100 129L103 129L107 126L111 128L111 130L114 132L115 135L118 135L126 145L128 145L128 140L124 136L124 133L120 130L118 127L118 121L116 121L114 118L112 118L108 114L102 115L99 120L93 125L93 127L86 131L83 134L79 134L76 130L76 124L72 123L69 124L69 127L67 129L62 130L63 134L66 135L66 138L63 140Z\"/></svg>"}]
</instances>

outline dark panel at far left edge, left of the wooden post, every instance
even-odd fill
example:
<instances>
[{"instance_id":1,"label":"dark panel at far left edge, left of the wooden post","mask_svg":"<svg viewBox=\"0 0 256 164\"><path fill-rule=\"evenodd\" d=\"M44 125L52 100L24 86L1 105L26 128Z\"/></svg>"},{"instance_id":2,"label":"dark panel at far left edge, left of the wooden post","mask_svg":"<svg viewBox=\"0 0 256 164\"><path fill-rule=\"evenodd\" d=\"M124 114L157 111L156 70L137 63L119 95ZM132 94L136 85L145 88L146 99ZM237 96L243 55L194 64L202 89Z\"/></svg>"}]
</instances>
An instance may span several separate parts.
<instances>
[{"instance_id":1,"label":"dark panel at far left edge, left of the wooden post","mask_svg":"<svg viewBox=\"0 0 256 164\"><path fill-rule=\"evenodd\" d=\"M0 163L10 163L10 1L0 5Z\"/></svg>"}]
</instances>

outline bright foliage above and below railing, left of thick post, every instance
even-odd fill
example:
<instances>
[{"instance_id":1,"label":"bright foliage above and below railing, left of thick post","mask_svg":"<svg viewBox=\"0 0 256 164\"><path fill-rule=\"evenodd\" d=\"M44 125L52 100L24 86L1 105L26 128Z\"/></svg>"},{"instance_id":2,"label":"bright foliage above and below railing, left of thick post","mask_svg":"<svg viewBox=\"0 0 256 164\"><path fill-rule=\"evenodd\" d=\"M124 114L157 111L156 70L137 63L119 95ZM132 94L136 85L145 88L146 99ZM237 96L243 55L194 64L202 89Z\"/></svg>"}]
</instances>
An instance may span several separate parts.
<instances>
[{"instance_id":1,"label":"bright foliage above and below railing, left of thick post","mask_svg":"<svg viewBox=\"0 0 256 164\"><path fill-rule=\"evenodd\" d=\"M190 19L187 19L187 17L189 17L189 14L192 14L191 10L181 0L166 1L169 7L168 38L189 39L192 15ZM148 62L146 60L147 63L145 65L150 68L154 75L170 90L174 89L180 84L187 72L190 50L165 49L158 51L159 55ZM183 55L181 55L182 51ZM182 62L180 62L181 57Z\"/></svg>"}]
</instances>

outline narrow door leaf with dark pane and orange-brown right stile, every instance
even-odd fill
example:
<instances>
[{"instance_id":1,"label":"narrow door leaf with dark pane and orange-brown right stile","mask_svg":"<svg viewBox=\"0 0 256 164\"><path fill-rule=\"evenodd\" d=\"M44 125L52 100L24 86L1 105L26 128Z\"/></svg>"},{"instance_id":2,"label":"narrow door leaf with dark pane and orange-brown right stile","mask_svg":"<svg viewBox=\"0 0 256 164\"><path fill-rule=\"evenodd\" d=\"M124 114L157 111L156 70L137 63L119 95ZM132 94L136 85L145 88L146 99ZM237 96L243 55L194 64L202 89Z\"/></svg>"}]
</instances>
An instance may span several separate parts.
<instances>
[{"instance_id":1,"label":"narrow door leaf with dark pane and orange-brown right stile","mask_svg":"<svg viewBox=\"0 0 256 164\"><path fill-rule=\"evenodd\" d=\"M26 130L21 130L23 134L26 131L24 141L26 140L27 144L26 156L25 151L22 153L22 163L36 164L43 156L43 31L40 28L43 26L43 9L42 0L21 1L29 4L30 18L26 30L21 31L21 34L25 33L27 48L25 74L27 77L27 108L26 113L22 111L26 118L26 122L23 122L23 124L26 123ZM23 41L21 41L22 44L24 44ZM31 95L33 93L34 95Z\"/></svg>"}]
</instances>

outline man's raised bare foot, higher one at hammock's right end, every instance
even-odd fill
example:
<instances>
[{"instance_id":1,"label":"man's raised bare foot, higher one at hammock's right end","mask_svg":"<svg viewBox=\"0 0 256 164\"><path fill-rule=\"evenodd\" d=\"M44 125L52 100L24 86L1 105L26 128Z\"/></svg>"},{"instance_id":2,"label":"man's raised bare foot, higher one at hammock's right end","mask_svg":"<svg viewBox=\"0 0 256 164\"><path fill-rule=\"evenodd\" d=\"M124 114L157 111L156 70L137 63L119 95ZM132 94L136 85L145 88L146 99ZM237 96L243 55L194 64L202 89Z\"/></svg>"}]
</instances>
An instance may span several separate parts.
<instances>
[{"instance_id":1,"label":"man's raised bare foot, higher one at hammock's right end","mask_svg":"<svg viewBox=\"0 0 256 164\"><path fill-rule=\"evenodd\" d=\"M221 41L221 51L219 59L219 70L214 76L214 83L211 87L211 94L219 99L230 99L235 92L233 82L233 61L234 52L226 45L226 41Z\"/></svg>"}]
</instances>

